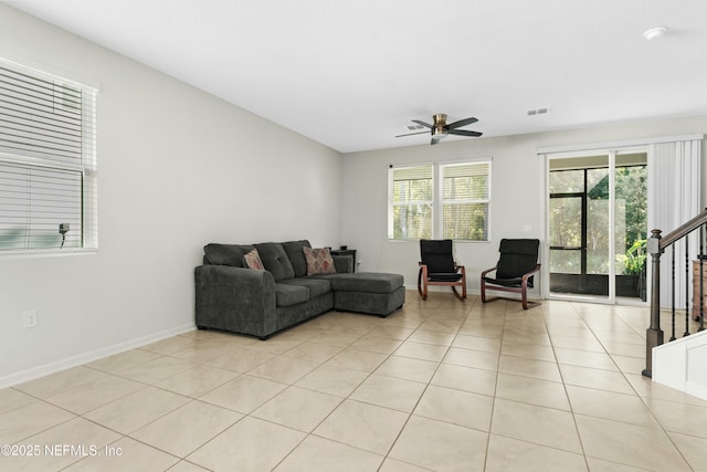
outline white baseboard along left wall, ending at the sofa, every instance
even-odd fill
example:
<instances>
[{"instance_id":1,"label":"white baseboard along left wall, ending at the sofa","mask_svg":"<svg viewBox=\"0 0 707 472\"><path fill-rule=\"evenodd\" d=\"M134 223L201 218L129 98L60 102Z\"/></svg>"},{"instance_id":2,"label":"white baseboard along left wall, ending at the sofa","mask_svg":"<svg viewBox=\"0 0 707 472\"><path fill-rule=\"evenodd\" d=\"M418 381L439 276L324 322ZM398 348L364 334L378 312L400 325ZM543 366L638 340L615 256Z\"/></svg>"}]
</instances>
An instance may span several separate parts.
<instances>
[{"instance_id":1,"label":"white baseboard along left wall, ending at the sofa","mask_svg":"<svg viewBox=\"0 0 707 472\"><path fill-rule=\"evenodd\" d=\"M54 363L44 364L38 367L32 367L31 369L10 374L10 375L0 377L0 388L8 388L8 387L12 387L13 385L19 385L25 381L34 380L36 378L44 377L50 374L55 374L61 370L66 370L72 367L81 366L86 363L92 363L94 360L97 360L107 356L113 356L114 354L120 354L129 349L135 349L136 347L146 346L148 344L156 343L158 340L161 340L171 336L177 336L179 334L188 333L194 329L197 329L197 326L194 326L193 323L188 323L181 326L176 326L170 329L165 329L159 333L141 336L136 339L130 339L124 343L114 344L113 346L102 347L101 349L92 350L88 353L67 357L62 360L56 360Z\"/></svg>"}]
</instances>

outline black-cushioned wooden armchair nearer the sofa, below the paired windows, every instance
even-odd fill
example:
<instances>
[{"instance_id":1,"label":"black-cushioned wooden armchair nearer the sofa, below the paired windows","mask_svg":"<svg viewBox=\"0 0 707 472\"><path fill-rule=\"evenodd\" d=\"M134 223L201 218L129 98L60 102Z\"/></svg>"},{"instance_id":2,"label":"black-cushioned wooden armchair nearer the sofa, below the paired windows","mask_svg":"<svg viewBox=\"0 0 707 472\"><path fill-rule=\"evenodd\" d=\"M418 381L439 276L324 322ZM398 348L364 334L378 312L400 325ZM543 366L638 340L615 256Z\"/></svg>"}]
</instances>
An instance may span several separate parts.
<instances>
[{"instance_id":1,"label":"black-cushioned wooden armchair nearer the sofa, below the paired windows","mask_svg":"<svg viewBox=\"0 0 707 472\"><path fill-rule=\"evenodd\" d=\"M452 240L420 240L420 272L418 273L418 292L422 300L428 300L428 286L446 285L452 287L454 296L466 300L466 270L454 262ZM460 295L456 287L462 287Z\"/></svg>"}]
</instances>

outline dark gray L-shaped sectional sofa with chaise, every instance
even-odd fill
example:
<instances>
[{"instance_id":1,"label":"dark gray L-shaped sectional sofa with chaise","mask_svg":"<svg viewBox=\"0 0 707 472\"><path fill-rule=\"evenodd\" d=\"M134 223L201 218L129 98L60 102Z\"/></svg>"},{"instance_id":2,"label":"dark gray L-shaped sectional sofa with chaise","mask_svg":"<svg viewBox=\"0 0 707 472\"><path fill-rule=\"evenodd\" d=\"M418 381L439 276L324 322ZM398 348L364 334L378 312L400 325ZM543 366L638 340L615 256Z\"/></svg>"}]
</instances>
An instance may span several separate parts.
<instances>
[{"instance_id":1,"label":"dark gray L-shaped sectional sofa with chaise","mask_svg":"<svg viewBox=\"0 0 707 472\"><path fill-rule=\"evenodd\" d=\"M336 274L307 275L308 241L207 244L194 270L196 323L261 339L329 310L388 316L405 302L399 274L354 273L349 256L333 256ZM243 256L257 249L264 271Z\"/></svg>"}]
</instances>

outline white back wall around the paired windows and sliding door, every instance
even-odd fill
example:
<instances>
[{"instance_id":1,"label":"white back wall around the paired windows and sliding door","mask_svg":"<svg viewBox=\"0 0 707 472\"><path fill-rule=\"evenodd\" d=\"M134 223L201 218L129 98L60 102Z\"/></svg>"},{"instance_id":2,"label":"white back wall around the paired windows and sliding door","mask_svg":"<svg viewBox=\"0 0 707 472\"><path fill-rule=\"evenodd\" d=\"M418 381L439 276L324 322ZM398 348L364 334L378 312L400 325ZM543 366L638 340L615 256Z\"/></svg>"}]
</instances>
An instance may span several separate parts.
<instances>
[{"instance_id":1,"label":"white back wall around the paired windows and sliding door","mask_svg":"<svg viewBox=\"0 0 707 472\"><path fill-rule=\"evenodd\" d=\"M545 242L545 161L537 155L539 148L706 132L707 117L701 116L347 154L342 164L344 243L358 249L361 271L402 273L408 287L416 286L419 243L388 240L389 165L492 157L490 242L455 243L456 260L466 266L467 284L478 292L479 274L496 264L502 238ZM703 202L707 201L706 158L703 148ZM538 284L532 292L540 293Z\"/></svg>"}]
</instances>

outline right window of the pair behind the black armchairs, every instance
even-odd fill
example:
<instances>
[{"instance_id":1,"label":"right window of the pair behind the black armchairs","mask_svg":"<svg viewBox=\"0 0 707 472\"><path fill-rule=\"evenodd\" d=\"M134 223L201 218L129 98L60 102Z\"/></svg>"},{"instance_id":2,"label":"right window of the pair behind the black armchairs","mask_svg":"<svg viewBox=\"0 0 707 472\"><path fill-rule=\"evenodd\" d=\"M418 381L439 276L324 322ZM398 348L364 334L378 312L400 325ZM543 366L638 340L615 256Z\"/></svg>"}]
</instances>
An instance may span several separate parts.
<instances>
[{"instance_id":1,"label":"right window of the pair behind the black armchairs","mask_svg":"<svg viewBox=\"0 0 707 472\"><path fill-rule=\"evenodd\" d=\"M490 162L442 165L442 238L488 241Z\"/></svg>"}]
</instances>

